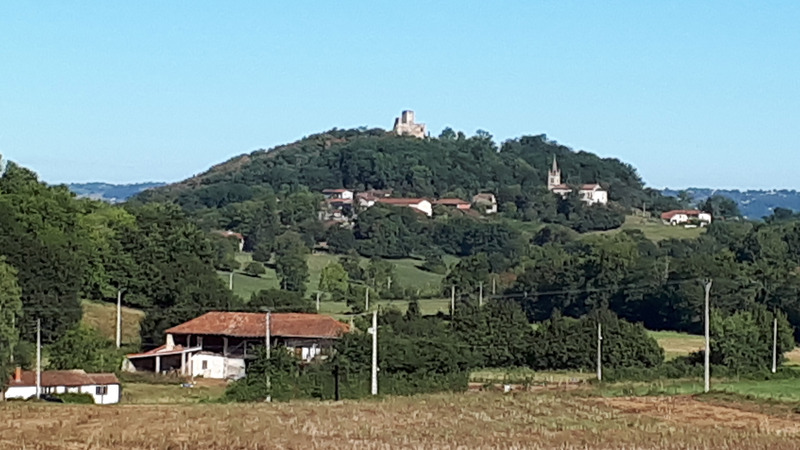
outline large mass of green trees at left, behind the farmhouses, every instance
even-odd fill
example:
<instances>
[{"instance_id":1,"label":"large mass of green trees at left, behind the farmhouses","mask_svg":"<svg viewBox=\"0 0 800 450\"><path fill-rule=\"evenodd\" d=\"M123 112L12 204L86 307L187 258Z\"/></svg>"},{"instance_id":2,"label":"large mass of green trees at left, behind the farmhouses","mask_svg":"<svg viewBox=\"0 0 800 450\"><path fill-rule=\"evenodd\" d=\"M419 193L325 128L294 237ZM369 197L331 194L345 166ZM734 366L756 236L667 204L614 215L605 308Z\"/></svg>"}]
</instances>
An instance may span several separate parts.
<instances>
[{"instance_id":1,"label":"large mass of green trees at left, behind the farmhouses","mask_svg":"<svg viewBox=\"0 0 800 450\"><path fill-rule=\"evenodd\" d=\"M219 254L174 205L78 199L7 163L0 176L0 365L30 360L37 321L51 344L77 330L82 300L143 309L142 344L211 309L235 306ZM69 348L67 346L66 348ZM4 373L0 373L4 377Z\"/></svg>"}]
</instances>

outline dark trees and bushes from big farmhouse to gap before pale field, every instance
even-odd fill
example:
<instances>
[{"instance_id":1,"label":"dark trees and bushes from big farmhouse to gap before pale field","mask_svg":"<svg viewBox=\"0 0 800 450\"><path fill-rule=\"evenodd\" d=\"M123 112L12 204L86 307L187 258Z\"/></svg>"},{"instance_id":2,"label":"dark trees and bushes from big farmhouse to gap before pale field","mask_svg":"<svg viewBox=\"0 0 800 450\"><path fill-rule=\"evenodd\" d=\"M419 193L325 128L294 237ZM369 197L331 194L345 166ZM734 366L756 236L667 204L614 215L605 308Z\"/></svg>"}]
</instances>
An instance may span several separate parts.
<instances>
[{"instance_id":1,"label":"dark trees and bushes from big farmhouse to gap before pale field","mask_svg":"<svg viewBox=\"0 0 800 450\"><path fill-rule=\"evenodd\" d=\"M663 350L641 325L607 311L567 325L557 322L555 328L543 324L536 331L511 300L483 307L465 300L452 317L422 316L418 303L411 302L405 314L387 309L378 318L378 383L383 395L464 391L476 368L591 370L598 320L608 330L608 341L617 342L603 356L608 367L653 368L664 359ZM268 359L262 352L249 365L247 376L228 388L226 399L333 399L337 377L341 398L370 395L372 336L364 332L370 324L362 317L355 324L357 329L343 336L323 361L304 364L278 349Z\"/></svg>"}]
</instances>

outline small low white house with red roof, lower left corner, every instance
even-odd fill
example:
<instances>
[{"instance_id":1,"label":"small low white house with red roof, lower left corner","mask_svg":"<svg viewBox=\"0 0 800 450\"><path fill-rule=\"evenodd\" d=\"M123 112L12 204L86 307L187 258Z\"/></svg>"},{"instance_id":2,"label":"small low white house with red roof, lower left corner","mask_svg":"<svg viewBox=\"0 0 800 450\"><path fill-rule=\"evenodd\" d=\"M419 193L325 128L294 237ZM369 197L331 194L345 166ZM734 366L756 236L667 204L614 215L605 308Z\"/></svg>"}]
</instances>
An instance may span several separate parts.
<instances>
[{"instance_id":1,"label":"small low white house with red roof, lower left corner","mask_svg":"<svg viewBox=\"0 0 800 450\"><path fill-rule=\"evenodd\" d=\"M41 373L41 395L89 394L98 405L119 403L119 380L113 373L86 373L83 370L47 370ZM36 372L19 367L8 382L5 398L36 397Z\"/></svg>"}]
</instances>

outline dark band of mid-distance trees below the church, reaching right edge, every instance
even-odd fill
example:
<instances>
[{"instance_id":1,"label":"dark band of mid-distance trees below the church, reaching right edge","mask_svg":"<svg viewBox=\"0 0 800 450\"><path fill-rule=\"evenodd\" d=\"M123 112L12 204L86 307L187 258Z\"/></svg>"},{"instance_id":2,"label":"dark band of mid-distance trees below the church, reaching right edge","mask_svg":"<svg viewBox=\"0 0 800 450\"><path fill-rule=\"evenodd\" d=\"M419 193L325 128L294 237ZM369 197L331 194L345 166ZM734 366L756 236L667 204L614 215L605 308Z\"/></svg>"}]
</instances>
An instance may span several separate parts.
<instances>
[{"instance_id":1,"label":"dark band of mid-distance trees below the church, reaching right edge","mask_svg":"<svg viewBox=\"0 0 800 450\"><path fill-rule=\"evenodd\" d=\"M715 222L694 240L654 243L641 232L579 236L542 228L504 275L503 295L518 299L531 321L557 310L580 317L608 308L648 329L699 333L702 280L713 279L711 302L723 316L766 307L800 328L800 222ZM443 288L477 298L481 284L503 275L488 254L462 258ZM800 335L798 335L800 337Z\"/></svg>"}]
</instances>

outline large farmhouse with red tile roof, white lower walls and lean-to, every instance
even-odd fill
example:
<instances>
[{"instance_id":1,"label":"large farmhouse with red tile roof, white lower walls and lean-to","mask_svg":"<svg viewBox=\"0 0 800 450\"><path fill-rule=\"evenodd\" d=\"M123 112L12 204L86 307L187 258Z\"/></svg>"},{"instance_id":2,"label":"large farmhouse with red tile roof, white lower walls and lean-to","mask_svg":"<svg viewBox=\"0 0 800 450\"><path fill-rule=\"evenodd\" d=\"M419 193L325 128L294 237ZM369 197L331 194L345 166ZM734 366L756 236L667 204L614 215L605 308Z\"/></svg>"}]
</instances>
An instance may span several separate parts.
<instances>
[{"instance_id":1,"label":"large farmhouse with red tile roof, white lower walls and lean-to","mask_svg":"<svg viewBox=\"0 0 800 450\"><path fill-rule=\"evenodd\" d=\"M194 377L237 379L246 361L265 345L269 320L270 344L282 346L304 361L325 358L349 327L330 316L300 313L213 311L166 330L167 343L128 355L130 372L177 372Z\"/></svg>"}]
</instances>

